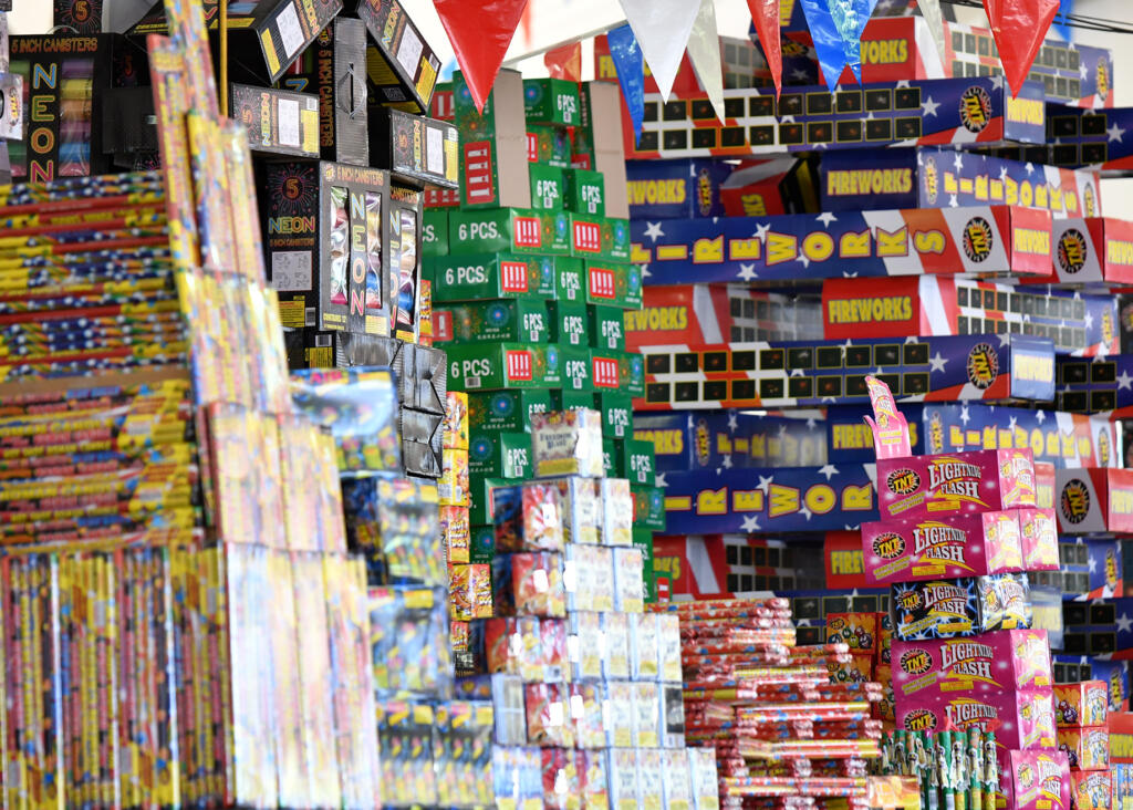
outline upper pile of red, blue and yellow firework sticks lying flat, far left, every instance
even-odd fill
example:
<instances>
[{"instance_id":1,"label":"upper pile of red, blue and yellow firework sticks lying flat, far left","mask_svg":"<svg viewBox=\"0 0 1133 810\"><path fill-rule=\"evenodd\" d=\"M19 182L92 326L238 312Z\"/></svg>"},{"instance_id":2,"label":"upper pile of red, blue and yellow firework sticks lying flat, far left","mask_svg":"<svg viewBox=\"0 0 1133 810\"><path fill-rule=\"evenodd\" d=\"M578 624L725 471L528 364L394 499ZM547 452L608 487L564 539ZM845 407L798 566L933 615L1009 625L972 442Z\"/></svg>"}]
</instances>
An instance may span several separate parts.
<instances>
[{"instance_id":1,"label":"upper pile of red, blue and yellow firework sticks lying flat, far left","mask_svg":"<svg viewBox=\"0 0 1133 810\"><path fill-rule=\"evenodd\" d=\"M0 381L187 364L161 178L0 188Z\"/></svg>"}]
</instances>

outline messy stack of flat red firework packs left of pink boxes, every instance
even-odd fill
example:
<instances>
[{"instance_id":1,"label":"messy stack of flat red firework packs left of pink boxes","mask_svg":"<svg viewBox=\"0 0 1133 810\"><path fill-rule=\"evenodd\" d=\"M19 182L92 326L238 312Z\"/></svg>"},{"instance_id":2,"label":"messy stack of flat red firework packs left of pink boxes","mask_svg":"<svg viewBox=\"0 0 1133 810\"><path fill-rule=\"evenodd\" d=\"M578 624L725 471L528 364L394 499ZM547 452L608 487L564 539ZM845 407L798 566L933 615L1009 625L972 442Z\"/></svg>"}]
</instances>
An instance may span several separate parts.
<instances>
[{"instance_id":1,"label":"messy stack of flat red firework packs left of pink boxes","mask_svg":"<svg viewBox=\"0 0 1133 810\"><path fill-rule=\"evenodd\" d=\"M724 807L877 807L881 685L832 683L849 647L796 647L787 604L667 606L681 621L687 740L714 749Z\"/></svg>"}]
</instances>

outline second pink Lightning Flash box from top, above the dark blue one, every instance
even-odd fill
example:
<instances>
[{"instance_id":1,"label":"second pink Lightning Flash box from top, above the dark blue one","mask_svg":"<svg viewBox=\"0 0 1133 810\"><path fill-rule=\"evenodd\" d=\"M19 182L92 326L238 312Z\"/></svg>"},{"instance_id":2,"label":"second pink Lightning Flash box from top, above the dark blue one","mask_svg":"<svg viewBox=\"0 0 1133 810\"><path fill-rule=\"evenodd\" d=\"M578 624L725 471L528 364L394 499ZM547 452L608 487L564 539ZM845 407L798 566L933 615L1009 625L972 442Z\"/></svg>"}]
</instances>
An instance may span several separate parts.
<instances>
[{"instance_id":1,"label":"second pink Lightning Flash box from top, above the dark blue one","mask_svg":"<svg viewBox=\"0 0 1133 810\"><path fill-rule=\"evenodd\" d=\"M1015 511L862 523L861 549L870 585L1023 570Z\"/></svg>"}]
</instances>

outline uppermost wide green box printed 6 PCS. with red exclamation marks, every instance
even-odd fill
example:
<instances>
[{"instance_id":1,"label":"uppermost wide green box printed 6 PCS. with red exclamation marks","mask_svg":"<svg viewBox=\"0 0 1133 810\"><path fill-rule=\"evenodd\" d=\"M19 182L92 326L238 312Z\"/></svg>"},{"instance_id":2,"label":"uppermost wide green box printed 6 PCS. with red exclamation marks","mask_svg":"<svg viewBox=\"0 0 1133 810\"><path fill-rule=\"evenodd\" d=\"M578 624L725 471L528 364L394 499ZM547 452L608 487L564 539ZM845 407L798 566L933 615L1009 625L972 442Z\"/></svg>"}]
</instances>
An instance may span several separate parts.
<instances>
[{"instance_id":1,"label":"uppermost wide green box printed 6 PCS. with red exclamation marks","mask_svg":"<svg viewBox=\"0 0 1133 810\"><path fill-rule=\"evenodd\" d=\"M449 215L449 251L457 255L483 253L534 253L566 255L571 251L571 228L565 212L522 208L453 211ZM597 240L602 229L582 229ZM593 231L593 232L591 232Z\"/></svg>"}]
</instances>

